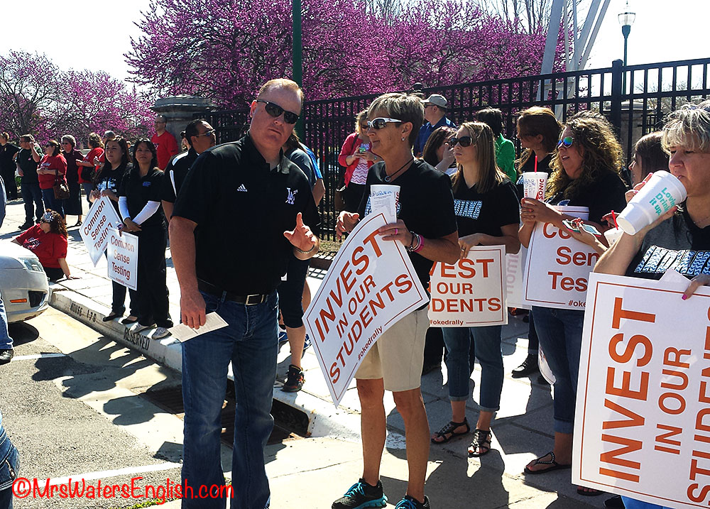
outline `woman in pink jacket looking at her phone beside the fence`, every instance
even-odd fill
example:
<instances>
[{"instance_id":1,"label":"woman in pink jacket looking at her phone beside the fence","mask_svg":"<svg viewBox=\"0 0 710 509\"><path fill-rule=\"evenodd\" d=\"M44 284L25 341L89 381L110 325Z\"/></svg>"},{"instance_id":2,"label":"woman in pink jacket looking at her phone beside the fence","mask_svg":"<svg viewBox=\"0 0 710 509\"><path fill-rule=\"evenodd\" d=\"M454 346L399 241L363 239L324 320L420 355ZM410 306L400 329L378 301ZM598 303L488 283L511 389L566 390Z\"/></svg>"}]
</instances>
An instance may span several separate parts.
<instances>
[{"instance_id":1,"label":"woman in pink jacket looking at her phone beside the fence","mask_svg":"<svg viewBox=\"0 0 710 509\"><path fill-rule=\"evenodd\" d=\"M344 177L346 211L357 212L365 190L368 170L378 160L381 159L370 150L370 138L367 137L367 110L364 109L357 114L355 132L345 138L338 156L338 163L346 168Z\"/></svg>"}]
</instances>

